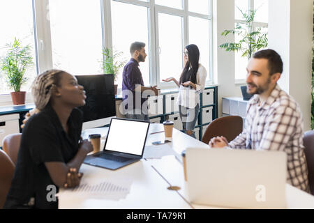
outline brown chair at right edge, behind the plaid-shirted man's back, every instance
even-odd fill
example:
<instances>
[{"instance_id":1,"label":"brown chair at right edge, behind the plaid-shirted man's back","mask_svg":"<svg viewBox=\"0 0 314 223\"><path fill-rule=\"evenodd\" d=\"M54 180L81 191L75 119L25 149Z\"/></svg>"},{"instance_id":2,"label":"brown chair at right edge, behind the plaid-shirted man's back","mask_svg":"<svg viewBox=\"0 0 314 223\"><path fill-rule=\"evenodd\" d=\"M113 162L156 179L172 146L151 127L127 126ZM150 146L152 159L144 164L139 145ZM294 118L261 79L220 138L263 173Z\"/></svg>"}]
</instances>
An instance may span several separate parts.
<instances>
[{"instance_id":1,"label":"brown chair at right edge, behind the plaid-shirted man's back","mask_svg":"<svg viewBox=\"0 0 314 223\"><path fill-rule=\"evenodd\" d=\"M304 153L308 163L308 183L311 194L314 195L314 130L307 131L303 137Z\"/></svg>"}]
</instances>

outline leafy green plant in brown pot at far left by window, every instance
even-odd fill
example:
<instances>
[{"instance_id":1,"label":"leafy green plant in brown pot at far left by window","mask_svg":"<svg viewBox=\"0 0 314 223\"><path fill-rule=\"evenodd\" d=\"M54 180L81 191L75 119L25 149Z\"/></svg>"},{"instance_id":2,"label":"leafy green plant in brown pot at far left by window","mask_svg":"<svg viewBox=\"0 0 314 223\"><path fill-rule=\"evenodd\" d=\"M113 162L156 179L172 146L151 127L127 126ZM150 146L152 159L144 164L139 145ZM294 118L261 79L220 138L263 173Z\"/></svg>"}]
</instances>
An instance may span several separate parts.
<instances>
[{"instance_id":1,"label":"leafy green plant in brown pot at far left by window","mask_svg":"<svg viewBox=\"0 0 314 223\"><path fill-rule=\"evenodd\" d=\"M24 74L30 66L33 65L31 56L31 47L29 45L22 47L21 41L14 38L13 44L6 44L6 55L0 61L1 70L6 74L8 85L13 100L13 105L25 104L25 91L20 91L22 84L27 82Z\"/></svg>"}]
</instances>

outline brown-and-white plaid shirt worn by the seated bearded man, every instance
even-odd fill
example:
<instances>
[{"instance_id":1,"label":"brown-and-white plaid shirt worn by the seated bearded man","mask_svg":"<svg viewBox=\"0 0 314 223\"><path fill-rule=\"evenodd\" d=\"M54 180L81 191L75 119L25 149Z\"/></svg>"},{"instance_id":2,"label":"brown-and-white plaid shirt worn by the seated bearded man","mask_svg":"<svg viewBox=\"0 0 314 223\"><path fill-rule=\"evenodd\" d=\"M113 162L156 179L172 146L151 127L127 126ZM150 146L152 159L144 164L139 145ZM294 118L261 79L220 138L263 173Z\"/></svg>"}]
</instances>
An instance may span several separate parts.
<instances>
[{"instance_id":1,"label":"brown-and-white plaid shirt worn by the seated bearded man","mask_svg":"<svg viewBox=\"0 0 314 223\"><path fill-rule=\"evenodd\" d=\"M246 109L244 131L230 141L230 148L287 153L287 183L309 192L303 146L303 118L297 102L278 85L262 105L255 95Z\"/></svg>"}]
</instances>

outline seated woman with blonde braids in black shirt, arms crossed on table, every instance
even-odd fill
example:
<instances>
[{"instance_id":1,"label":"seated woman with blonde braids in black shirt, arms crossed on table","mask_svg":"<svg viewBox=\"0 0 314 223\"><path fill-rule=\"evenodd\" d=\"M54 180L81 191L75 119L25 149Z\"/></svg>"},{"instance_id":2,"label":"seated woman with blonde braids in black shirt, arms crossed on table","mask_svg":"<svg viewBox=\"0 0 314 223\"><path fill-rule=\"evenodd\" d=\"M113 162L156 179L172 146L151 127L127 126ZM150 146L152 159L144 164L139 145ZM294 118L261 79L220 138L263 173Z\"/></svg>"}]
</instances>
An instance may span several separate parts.
<instances>
[{"instance_id":1,"label":"seated woman with blonde braids in black shirt, arms crossed on table","mask_svg":"<svg viewBox=\"0 0 314 223\"><path fill-rule=\"evenodd\" d=\"M91 143L80 141L83 86L62 70L38 75L31 87L36 105L27 114L20 150L4 208L58 208L59 187L80 184L80 169Z\"/></svg>"}]
</instances>

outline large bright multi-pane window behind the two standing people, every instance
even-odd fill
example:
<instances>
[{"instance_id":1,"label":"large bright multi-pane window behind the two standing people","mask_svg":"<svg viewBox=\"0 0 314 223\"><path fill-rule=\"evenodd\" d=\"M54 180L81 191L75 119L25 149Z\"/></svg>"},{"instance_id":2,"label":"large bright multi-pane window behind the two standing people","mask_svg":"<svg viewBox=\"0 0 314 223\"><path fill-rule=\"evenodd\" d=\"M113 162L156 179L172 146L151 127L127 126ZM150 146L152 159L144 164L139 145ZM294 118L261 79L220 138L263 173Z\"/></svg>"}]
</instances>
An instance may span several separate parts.
<instances>
[{"instance_id":1,"label":"large bright multi-pane window behind the two standing people","mask_svg":"<svg viewBox=\"0 0 314 223\"><path fill-rule=\"evenodd\" d=\"M128 61L135 41L146 43L147 58L140 63L145 85L174 86L162 79L179 78L184 47L191 43L199 47L212 81L211 0L2 0L0 29L0 56L15 36L32 47L34 66L27 71L25 91L47 69L103 72L103 47L122 52L119 60ZM3 75L0 87L0 94L10 92Z\"/></svg>"}]
</instances>

